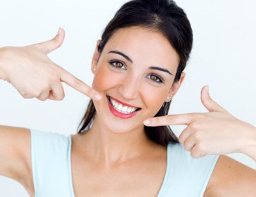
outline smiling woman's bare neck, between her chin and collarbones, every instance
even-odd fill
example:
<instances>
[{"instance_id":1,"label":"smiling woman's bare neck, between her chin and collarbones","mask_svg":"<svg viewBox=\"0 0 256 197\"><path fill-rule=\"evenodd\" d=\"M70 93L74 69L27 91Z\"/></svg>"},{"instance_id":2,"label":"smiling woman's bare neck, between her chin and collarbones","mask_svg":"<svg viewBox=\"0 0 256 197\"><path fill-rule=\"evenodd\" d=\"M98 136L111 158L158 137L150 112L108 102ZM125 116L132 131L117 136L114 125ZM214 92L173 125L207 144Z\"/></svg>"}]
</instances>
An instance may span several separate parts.
<instances>
[{"instance_id":1,"label":"smiling woman's bare neck, between her chin and collarbones","mask_svg":"<svg viewBox=\"0 0 256 197\"><path fill-rule=\"evenodd\" d=\"M126 133L116 133L104 127L97 116L81 140L84 150L90 150L86 155L95 163L106 166L136 159L156 146L147 138L143 125Z\"/></svg>"}]
</instances>

